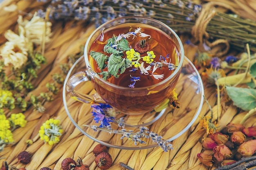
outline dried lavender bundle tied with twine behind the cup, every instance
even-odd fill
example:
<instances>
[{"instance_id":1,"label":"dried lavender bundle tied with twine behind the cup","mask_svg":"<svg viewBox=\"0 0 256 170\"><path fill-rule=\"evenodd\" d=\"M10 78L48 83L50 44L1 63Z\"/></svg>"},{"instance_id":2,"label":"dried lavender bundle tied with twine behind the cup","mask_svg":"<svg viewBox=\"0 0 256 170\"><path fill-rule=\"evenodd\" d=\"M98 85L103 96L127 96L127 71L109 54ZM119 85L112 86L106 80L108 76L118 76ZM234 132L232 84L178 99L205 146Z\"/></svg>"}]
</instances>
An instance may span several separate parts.
<instances>
[{"instance_id":1,"label":"dried lavender bundle tied with twine behind the cup","mask_svg":"<svg viewBox=\"0 0 256 170\"><path fill-rule=\"evenodd\" d=\"M49 18L95 22L99 26L121 16L140 15L162 21L178 33L191 33L194 27L193 35L202 39L200 42L223 39L241 51L249 43L250 49L256 51L256 22L217 12L214 5L205 7L190 0L52 0ZM225 7L232 10L232 7ZM206 17L196 22L203 9L202 15ZM45 15L43 10L38 13L42 17ZM202 30L197 32L198 29Z\"/></svg>"}]
</instances>

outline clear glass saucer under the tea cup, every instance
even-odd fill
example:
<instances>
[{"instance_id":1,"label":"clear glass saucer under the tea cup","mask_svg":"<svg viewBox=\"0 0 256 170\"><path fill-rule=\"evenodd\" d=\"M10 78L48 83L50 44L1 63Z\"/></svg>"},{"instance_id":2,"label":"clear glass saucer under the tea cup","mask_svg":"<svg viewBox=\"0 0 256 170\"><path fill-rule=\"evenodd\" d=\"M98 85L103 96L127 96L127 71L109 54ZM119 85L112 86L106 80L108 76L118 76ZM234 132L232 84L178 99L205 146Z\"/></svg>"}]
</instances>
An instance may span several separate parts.
<instances>
[{"instance_id":1,"label":"clear glass saucer under the tea cup","mask_svg":"<svg viewBox=\"0 0 256 170\"><path fill-rule=\"evenodd\" d=\"M68 117L84 135L90 139L97 141L100 144L108 147L128 150L140 150L153 148L158 146L151 139L143 138L142 140L146 144L138 144L128 138L121 139L122 134L110 133L105 131L94 131L88 126L100 126L100 123L95 123L92 116L92 104L84 104L77 102L70 98L65 92L65 85L67 79L79 71L85 70L85 62L83 56L81 56L67 73L67 77L63 86L63 103ZM168 107L159 113L146 113L145 115L129 116L129 115L117 115L116 119L124 117L126 130L139 131L138 127L146 126L149 130L162 136L163 139L173 141L186 130L188 130L195 120L198 118L200 110L203 104L204 87L200 74L196 70L195 66L184 57L184 63L180 78L176 85L176 93L178 94L178 101L180 102L180 108ZM77 86L77 89L82 93L95 93L93 86L90 82L81 83ZM76 90L77 90L76 89ZM118 127L117 122L111 122L113 130L121 130Z\"/></svg>"}]
</instances>

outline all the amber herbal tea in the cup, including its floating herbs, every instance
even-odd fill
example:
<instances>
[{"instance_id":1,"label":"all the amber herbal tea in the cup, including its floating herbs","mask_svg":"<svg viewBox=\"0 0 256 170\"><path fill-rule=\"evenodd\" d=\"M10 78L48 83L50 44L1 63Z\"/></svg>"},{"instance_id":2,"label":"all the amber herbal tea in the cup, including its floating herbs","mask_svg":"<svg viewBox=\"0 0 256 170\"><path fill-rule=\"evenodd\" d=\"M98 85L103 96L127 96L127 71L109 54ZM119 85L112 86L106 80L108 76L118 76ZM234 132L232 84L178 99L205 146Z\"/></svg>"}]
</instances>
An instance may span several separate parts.
<instances>
[{"instance_id":1,"label":"all the amber herbal tea in the cup, including its floating herbs","mask_svg":"<svg viewBox=\"0 0 256 170\"><path fill-rule=\"evenodd\" d=\"M102 99L126 114L155 108L170 97L180 75L179 71L168 82L158 84L174 72L180 53L166 33L147 24L126 23L103 30L89 53L94 72L111 84L130 88L108 87L92 79ZM141 89L144 87L148 88Z\"/></svg>"}]
</instances>

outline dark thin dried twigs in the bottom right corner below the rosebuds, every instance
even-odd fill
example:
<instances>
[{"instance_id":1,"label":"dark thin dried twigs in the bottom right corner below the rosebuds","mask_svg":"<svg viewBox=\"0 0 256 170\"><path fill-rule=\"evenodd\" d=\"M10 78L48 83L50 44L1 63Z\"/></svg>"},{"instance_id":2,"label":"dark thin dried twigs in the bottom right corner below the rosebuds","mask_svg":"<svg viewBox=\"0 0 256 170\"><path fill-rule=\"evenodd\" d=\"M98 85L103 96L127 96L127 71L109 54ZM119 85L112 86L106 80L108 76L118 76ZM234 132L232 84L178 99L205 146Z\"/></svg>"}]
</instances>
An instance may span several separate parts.
<instances>
[{"instance_id":1,"label":"dark thin dried twigs in the bottom right corner below the rosebuds","mask_svg":"<svg viewBox=\"0 0 256 170\"><path fill-rule=\"evenodd\" d=\"M251 162L252 161L252 162ZM244 165L242 165L241 167L238 166L240 165L241 163L243 162L248 162L248 163L245 163ZM239 169L233 169L235 168L236 166L238 166ZM240 159L239 161L235 162L235 163L232 163L231 165L226 165L226 166L221 166L215 170L246 170L247 168L251 168L253 166L256 166L256 156L252 156L252 157L247 157L247 158L242 158ZM245 169L242 169L245 168Z\"/></svg>"}]
</instances>

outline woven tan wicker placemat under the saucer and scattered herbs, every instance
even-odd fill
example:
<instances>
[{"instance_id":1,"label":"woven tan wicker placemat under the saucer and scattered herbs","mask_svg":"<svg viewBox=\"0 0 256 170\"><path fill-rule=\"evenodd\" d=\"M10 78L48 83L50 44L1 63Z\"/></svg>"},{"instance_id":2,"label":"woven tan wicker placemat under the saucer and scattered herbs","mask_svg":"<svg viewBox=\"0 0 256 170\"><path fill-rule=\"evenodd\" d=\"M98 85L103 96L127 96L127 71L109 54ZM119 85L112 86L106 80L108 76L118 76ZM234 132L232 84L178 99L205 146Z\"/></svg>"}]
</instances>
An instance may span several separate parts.
<instances>
[{"instance_id":1,"label":"woven tan wicker placemat under the saucer and scattered herbs","mask_svg":"<svg viewBox=\"0 0 256 170\"><path fill-rule=\"evenodd\" d=\"M9 6L10 4L16 4L18 10L15 9L11 12L2 10L4 6ZM3 36L4 31L7 29L17 29L16 21L18 11L33 13L40 5L38 2L28 0L3 1L0 8L2 10L0 13L0 42L3 43L5 41ZM31 94L39 95L40 92L46 90L45 84L47 82L53 82L51 75L61 73L59 65L66 63L70 54L81 52L80 47L85 44L88 36L94 29L95 26L93 24L85 25L79 22L74 24L73 21L53 23L52 41L45 46L47 64L43 65L40 69L40 74L36 80L38 84L37 88ZM186 35L181 35L181 39L185 42L187 40ZM193 60L197 47L184 43L184 50L185 55ZM59 88L62 91L62 86ZM88 88L88 93L90 91L92 91L92 88ZM208 86L204 82L204 94L215 113L217 111L216 87ZM72 105L78 112L79 109L82 109L76 108L76 102ZM186 107L182 103L181 106ZM63 159L67 157L74 159L81 157L83 163L90 166L90 170L98 170L94 162L95 157L92 153L92 149L98 143L92 141L74 127L63 107L62 93L55 95L53 102L47 102L45 108L45 113L38 113L33 108L26 110L24 115L26 116L27 125L13 132L14 143L6 146L0 152L1 161L7 161L9 165L14 165L17 168L25 167L27 170L39 170L42 167L61 170L61 161ZM221 110L221 113L220 127L226 126L231 121L239 123L241 117L245 115L245 113L237 115L238 108L232 104L226 105ZM200 117L204 115L210 115L209 106L206 103L202 106ZM60 142L54 146L45 144L38 136L38 130L41 124L50 117L59 119L64 130ZM213 117L213 121L216 119L216 116ZM256 125L254 119L249 119L245 123L245 126L253 125ZM108 152L113 159L113 164L109 170L124 170L119 165L119 162L126 163L135 170L207 170L209 168L202 165L197 158L197 154L202 152L202 144L200 144L198 139L206 135L205 130L199 126L198 118L188 131L173 141L174 148L169 152L164 152L159 147L147 150L119 150L109 148ZM28 139L32 139L34 143L27 145L26 141ZM27 165L18 164L17 155L23 150L33 155L31 162ZM204 152L207 153L207 151Z\"/></svg>"}]
</instances>

